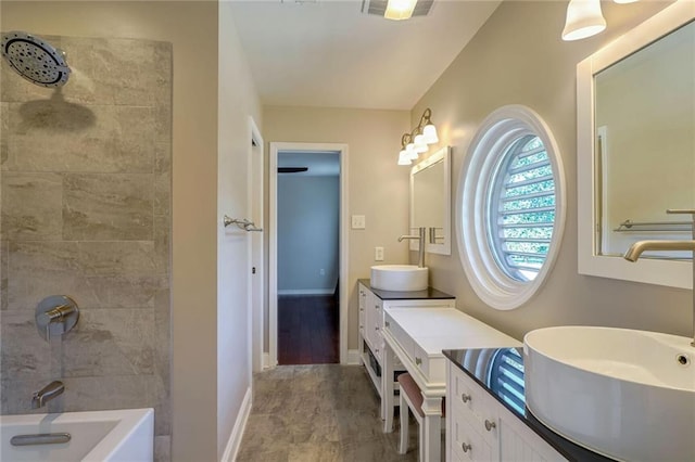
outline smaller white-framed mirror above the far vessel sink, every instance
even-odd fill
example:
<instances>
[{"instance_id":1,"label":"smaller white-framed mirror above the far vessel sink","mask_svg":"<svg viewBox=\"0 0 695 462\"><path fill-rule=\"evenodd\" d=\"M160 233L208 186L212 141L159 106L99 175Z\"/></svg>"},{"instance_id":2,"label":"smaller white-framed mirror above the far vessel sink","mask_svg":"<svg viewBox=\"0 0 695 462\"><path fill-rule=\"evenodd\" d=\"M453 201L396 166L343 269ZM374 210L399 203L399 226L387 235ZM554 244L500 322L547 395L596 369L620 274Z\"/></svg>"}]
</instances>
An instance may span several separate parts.
<instances>
[{"instance_id":1,"label":"smaller white-framed mirror above the far vessel sink","mask_svg":"<svg viewBox=\"0 0 695 462\"><path fill-rule=\"evenodd\" d=\"M451 159L443 147L410 169L410 228L427 228L426 252L451 255ZM419 244L410 240L410 251Z\"/></svg>"}]
</instances>

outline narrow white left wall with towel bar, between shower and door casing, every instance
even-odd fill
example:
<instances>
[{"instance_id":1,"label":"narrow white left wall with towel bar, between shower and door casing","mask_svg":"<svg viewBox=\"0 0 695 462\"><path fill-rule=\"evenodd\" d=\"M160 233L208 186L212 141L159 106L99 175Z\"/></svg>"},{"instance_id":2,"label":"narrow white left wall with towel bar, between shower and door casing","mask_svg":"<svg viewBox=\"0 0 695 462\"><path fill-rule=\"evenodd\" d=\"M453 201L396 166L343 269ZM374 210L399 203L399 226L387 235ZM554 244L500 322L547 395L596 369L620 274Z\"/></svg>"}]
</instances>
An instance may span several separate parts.
<instances>
[{"instance_id":1,"label":"narrow white left wall with towel bar, between shower and door casing","mask_svg":"<svg viewBox=\"0 0 695 462\"><path fill-rule=\"evenodd\" d=\"M233 23L219 2L217 159L217 459L251 390L251 320L248 306L250 233L225 229L222 217L249 218L249 116L262 127L261 103ZM213 223L211 223L213 224ZM241 428L238 428L240 431ZM240 435L236 435L240 436Z\"/></svg>"}]
</instances>

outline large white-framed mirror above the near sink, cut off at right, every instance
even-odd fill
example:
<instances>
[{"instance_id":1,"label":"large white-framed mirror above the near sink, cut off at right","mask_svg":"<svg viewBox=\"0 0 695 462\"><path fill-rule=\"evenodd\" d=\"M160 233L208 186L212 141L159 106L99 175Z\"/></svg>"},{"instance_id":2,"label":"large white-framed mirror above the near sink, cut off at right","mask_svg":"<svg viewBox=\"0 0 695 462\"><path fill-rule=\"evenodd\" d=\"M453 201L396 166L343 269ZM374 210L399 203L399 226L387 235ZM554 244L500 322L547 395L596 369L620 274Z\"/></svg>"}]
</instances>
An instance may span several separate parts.
<instances>
[{"instance_id":1,"label":"large white-framed mirror above the near sink, cut off at right","mask_svg":"<svg viewBox=\"0 0 695 462\"><path fill-rule=\"evenodd\" d=\"M581 274L693 286L690 252L622 255L692 236L666 209L695 207L694 20L681 0L577 65Z\"/></svg>"}]
</instances>

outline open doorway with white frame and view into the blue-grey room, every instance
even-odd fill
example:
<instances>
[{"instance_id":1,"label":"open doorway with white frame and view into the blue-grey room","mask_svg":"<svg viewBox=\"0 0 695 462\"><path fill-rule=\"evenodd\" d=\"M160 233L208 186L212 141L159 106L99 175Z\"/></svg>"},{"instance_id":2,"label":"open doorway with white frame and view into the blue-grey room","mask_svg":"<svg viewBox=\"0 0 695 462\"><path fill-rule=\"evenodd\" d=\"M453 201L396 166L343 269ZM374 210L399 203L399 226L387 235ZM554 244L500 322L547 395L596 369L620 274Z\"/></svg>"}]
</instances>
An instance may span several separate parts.
<instances>
[{"instance_id":1,"label":"open doorway with white frame and view into the blue-grey room","mask_svg":"<svg viewBox=\"0 0 695 462\"><path fill-rule=\"evenodd\" d=\"M348 357L344 144L270 143L269 361Z\"/></svg>"}]
</instances>

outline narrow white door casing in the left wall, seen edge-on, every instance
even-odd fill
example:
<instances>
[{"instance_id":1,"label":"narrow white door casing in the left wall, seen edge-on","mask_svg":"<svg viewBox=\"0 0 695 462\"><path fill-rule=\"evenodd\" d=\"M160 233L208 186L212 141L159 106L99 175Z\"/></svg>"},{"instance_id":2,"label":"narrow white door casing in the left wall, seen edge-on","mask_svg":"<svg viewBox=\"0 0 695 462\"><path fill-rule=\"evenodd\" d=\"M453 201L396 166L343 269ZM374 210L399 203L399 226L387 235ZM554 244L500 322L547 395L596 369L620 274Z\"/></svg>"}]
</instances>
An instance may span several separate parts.
<instances>
[{"instance_id":1,"label":"narrow white door casing in the left wall, seen edge-on","mask_svg":"<svg viewBox=\"0 0 695 462\"><path fill-rule=\"evenodd\" d=\"M264 320L265 320L265 281L264 281L264 255L263 240L266 230L263 223L263 177L264 177L264 154L265 144L258 126L252 116L249 116L249 140L247 157L248 182L248 210L247 215L256 228L263 231L250 232L248 241L249 254L249 351L251 351L251 371L260 372L267 367L263 354L264 348ZM253 273L255 268L255 274Z\"/></svg>"}]
</instances>

